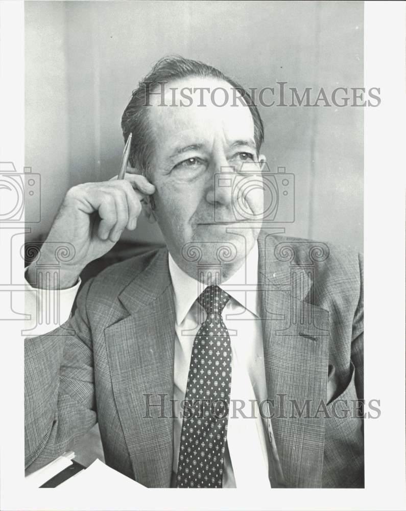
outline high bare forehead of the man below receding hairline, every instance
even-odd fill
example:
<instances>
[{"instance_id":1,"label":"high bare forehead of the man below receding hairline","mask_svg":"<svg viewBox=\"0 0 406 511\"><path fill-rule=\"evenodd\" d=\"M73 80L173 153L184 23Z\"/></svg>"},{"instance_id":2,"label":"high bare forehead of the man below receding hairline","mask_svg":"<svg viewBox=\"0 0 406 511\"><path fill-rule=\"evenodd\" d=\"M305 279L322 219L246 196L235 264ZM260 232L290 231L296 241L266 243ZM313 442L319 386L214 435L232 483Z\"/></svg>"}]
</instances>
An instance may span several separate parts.
<instances>
[{"instance_id":1,"label":"high bare forehead of the man below receding hairline","mask_svg":"<svg viewBox=\"0 0 406 511\"><path fill-rule=\"evenodd\" d=\"M210 144L216 136L225 142L254 137L250 109L229 83L190 77L170 82L164 90L164 101L160 95L152 96L148 112L159 144L180 140Z\"/></svg>"}]
</instances>

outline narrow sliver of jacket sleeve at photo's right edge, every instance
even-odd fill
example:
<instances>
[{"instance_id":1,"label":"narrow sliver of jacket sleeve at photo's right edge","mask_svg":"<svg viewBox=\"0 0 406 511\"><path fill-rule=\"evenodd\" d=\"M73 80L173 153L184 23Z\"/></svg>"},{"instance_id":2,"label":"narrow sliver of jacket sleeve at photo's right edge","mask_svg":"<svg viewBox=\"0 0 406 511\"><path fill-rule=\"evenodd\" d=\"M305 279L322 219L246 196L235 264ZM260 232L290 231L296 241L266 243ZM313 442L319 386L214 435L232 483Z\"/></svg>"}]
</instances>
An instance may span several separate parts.
<instances>
[{"instance_id":1,"label":"narrow sliver of jacket sleeve at photo's right edge","mask_svg":"<svg viewBox=\"0 0 406 511\"><path fill-rule=\"evenodd\" d=\"M351 361L355 368L355 388L357 398L364 399L364 265L363 256L359 254L360 298L352 323Z\"/></svg>"}]
</instances>

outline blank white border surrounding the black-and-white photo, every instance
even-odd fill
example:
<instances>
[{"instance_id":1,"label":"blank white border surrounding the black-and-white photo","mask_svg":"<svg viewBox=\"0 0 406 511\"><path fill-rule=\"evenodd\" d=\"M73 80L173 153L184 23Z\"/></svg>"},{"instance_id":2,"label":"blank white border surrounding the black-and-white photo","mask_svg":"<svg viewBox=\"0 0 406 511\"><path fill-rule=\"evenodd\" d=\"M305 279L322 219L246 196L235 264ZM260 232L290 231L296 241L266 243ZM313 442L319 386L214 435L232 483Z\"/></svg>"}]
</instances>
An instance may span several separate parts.
<instances>
[{"instance_id":1,"label":"blank white border surrounding the black-and-white photo","mask_svg":"<svg viewBox=\"0 0 406 511\"><path fill-rule=\"evenodd\" d=\"M405 3L365 2L365 87L381 104L365 109L365 394L379 419L365 421L365 489L148 490L146 496L69 495L24 489L23 338L3 321L0 508L29 509L404 509L405 489ZM23 2L0 2L0 161L24 166ZM0 239L4 241L0 229ZM10 282L2 250L2 282ZM23 262L20 261L21 275ZM0 293L1 295L1 293ZM180 497L181 496L181 497Z\"/></svg>"}]
</instances>

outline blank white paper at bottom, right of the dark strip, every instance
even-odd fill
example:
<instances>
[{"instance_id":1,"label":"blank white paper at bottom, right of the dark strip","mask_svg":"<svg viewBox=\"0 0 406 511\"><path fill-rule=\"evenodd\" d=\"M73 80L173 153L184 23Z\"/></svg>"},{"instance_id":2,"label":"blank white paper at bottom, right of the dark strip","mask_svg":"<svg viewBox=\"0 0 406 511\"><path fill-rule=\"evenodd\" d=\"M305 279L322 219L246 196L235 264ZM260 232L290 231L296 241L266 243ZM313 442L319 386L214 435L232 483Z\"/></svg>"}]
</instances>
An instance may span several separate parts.
<instances>
[{"instance_id":1,"label":"blank white paper at bottom, right of the dark strip","mask_svg":"<svg viewBox=\"0 0 406 511\"><path fill-rule=\"evenodd\" d=\"M86 469L67 479L56 487L56 490L74 490L88 492L98 490L100 487L114 487L114 491L146 490L146 486L108 467L103 461L97 459Z\"/></svg>"}]
</instances>

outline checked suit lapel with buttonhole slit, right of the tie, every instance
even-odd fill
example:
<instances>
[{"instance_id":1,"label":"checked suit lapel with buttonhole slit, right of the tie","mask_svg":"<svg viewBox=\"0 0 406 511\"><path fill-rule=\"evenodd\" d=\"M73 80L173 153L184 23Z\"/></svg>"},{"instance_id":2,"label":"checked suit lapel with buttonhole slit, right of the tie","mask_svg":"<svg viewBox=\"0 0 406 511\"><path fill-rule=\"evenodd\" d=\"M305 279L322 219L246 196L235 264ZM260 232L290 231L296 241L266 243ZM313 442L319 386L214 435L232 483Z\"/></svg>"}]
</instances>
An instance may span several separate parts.
<instances>
[{"instance_id":1,"label":"checked suit lapel with buttonhole slit, right of the tie","mask_svg":"<svg viewBox=\"0 0 406 511\"><path fill-rule=\"evenodd\" d=\"M317 409L326 399L328 311L304 301L312 289L307 267L292 269L290 261L275 258L273 237L261 237L258 242L258 282L265 289L261 304L264 362L284 484L319 487L324 415L317 414ZM299 287L294 286L296 278L301 280Z\"/></svg>"}]
</instances>

